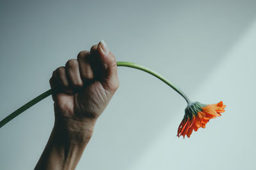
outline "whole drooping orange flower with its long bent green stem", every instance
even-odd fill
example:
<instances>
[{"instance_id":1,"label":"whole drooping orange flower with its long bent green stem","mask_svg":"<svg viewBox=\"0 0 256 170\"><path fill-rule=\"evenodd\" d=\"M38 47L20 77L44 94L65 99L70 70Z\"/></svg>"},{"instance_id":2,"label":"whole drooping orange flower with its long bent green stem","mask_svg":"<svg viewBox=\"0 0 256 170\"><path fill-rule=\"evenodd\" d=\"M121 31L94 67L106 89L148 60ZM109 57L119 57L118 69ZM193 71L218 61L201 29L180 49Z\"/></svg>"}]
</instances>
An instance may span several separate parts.
<instances>
[{"instance_id":1,"label":"whole drooping orange flower with its long bent green stem","mask_svg":"<svg viewBox=\"0 0 256 170\"><path fill-rule=\"evenodd\" d=\"M191 103L190 99L186 94L179 89L175 84L172 83L172 81L167 80L162 76L161 74L157 73L156 71L141 66L140 64L136 64L133 62L116 62L116 66L124 66L124 67L132 67L135 69L140 69L141 71L145 71L149 74L152 74L153 76L156 76L156 78L159 78L159 80L166 83L168 86L170 86L173 90L178 92L180 96L182 96L186 102L188 103L188 106L185 110L184 118L179 125L178 134L177 136L185 136L187 135L188 138L191 136L191 133L194 131L197 131L198 128L202 127L205 128L205 124L209 122L211 118L220 117L221 113L223 113L225 110L225 105L223 105L222 101L218 104L201 104L201 103ZM28 103L21 106L19 109L13 111L8 117L4 118L0 121L0 128L3 127L3 125L7 124L12 120L13 118L17 117L22 113L23 111L27 110L34 104L38 103L42 99L44 99L47 96L50 96L52 93L54 93L56 89L49 89L43 94L40 94L40 96L35 97L35 99L29 101Z\"/></svg>"}]
</instances>

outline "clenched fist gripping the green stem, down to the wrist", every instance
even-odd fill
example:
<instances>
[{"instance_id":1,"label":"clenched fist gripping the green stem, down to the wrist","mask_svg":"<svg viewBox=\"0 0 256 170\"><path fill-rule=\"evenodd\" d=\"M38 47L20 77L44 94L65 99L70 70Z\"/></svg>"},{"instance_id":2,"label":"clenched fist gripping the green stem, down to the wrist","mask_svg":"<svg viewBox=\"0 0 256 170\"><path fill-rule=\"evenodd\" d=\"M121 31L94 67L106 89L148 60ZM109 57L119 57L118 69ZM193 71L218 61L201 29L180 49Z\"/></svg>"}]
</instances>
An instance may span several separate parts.
<instances>
[{"instance_id":1,"label":"clenched fist gripping the green stem, down to the wrist","mask_svg":"<svg viewBox=\"0 0 256 170\"><path fill-rule=\"evenodd\" d=\"M97 120L118 89L116 58L102 40L90 52L58 67L50 79L55 120L92 122ZM72 123L68 123L72 124Z\"/></svg>"}]
</instances>

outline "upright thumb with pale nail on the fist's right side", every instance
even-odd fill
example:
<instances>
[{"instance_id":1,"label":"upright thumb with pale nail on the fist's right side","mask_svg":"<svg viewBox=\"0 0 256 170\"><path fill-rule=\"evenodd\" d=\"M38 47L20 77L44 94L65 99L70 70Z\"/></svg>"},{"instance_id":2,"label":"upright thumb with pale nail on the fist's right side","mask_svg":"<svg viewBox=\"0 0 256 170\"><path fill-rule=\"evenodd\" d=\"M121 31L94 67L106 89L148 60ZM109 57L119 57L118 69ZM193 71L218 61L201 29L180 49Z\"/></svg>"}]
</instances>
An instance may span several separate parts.
<instances>
[{"instance_id":1,"label":"upright thumb with pale nail on the fist's right side","mask_svg":"<svg viewBox=\"0 0 256 170\"><path fill-rule=\"evenodd\" d=\"M97 51L102 62L102 71L104 72L102 84L106 89L115 92L119 87L116 57L111 51L109 51L108 45L103 39L99 42Z\"/></svg>"}]
</instances>

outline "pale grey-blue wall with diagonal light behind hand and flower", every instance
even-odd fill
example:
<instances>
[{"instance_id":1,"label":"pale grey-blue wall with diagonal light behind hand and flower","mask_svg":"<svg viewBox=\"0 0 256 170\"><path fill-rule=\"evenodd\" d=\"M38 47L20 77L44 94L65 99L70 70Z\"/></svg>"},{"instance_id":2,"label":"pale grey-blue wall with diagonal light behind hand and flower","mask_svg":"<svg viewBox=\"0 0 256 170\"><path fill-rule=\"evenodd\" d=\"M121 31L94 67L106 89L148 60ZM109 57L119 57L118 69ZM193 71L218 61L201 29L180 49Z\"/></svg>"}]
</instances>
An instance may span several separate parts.
<instances>
[{"instance_id":1,"label":"pale grey-blue wall with diagonal light behind hand and flower","mask_svg":"<svg viewBox=\"0 0 256 170\"><path fill-rule=\"evenodd\" d=\"M149 74L118 67L120 88L77 169L256 169L256 1L1 1L3 119L49 89L56 67L105 39L193 101L227 111L177 138L186 102ZM0 169L33 169L54 122L51 97L0 129Z\"/></svg>"}]
</instances>

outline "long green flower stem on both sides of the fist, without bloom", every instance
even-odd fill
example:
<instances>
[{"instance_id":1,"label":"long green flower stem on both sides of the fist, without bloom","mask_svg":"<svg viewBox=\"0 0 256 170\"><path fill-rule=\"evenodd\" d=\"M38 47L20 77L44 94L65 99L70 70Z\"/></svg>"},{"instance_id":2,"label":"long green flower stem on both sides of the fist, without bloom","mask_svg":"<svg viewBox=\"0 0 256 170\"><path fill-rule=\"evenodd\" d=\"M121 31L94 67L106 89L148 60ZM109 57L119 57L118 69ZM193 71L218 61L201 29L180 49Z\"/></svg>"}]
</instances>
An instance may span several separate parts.
<instances>
[{"instance_id":1,"label":"long green flower stem on both sides of the fist, without bloom","mask_svg":"<svg viewBox=\"0 0 256 170\"><path fill-rule=\"evenodd\" d=\"M182 92L182 90L179 89L179 87L175 86L172 82L168 81L166 78L164 78L164 76L162 76L161 74L157 73L156 71L145 67L145 66L141 66L139 64L135 64L132 62L116 62L117 66L125 66L125 67L133 67L136 69L140 69L142 71L145 71L149 74L152 74L153 76L156 76L157 78L159 78L160 80L164 81L164 83L166 83L167 85L169 85L170 87L172 87L172 89L174 89L176 92L178 92L182 97L184 97L184 99L186 100L186 102L189 104L191 103L188 96L186 96L186 94L184 94L184 92ZM34 104L38 103L39 101L42 101L42 99L44 99L45 97L48 97L52 94L53 90L47 90L46 92L44 92L43 94L40 94L40 96L37 96L35 99L29 101L28 103L24 104L23 106L21 106L19 109L15 110L13 113L11 113L10 115L8 115L8 117L4 118L1 122L0 122L0 128L3 127L3 125L7 124L8 122L10 122L10 120L12 120L13 118L17 117L18 115L20 115L20 113L22 113L25 110L28 110L28 108L30 108L31 106L33 106Z\"/></svg>"}]
</instances>

